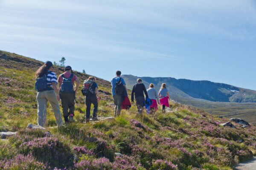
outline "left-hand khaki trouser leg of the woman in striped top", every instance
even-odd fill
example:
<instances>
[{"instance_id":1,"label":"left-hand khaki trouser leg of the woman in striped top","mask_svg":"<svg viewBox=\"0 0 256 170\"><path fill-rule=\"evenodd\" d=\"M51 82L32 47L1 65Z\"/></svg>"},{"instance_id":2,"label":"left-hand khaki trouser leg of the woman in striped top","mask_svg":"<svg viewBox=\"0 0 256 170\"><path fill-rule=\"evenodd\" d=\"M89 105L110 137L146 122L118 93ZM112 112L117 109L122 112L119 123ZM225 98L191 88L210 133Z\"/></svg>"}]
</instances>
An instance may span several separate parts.
<instances>
[{"instance_id":1,"label":"left-hand khaki trouser leg of the woman in striped top","mask_svg":"<svg viewBox=\"0 0 256 170\"><path fill-rule=\"evenodd\" d=\"M38 102L38 125L46 126L47 99L44 98L44 92L38 92L36 96Z\"/></svg>"}]
</instances>

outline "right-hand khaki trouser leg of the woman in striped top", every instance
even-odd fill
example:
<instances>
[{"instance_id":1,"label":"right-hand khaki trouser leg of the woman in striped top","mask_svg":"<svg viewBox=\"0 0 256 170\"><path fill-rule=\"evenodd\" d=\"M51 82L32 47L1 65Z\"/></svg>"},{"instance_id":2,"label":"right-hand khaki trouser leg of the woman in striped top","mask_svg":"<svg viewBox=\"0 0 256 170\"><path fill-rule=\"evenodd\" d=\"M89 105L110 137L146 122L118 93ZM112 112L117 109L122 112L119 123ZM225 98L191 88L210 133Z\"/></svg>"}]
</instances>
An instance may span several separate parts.
<instances>
[{"instance_id":1,"label":"right-hand khaki trouser leg of the woman in striped top","mask_svg":"<svg viewBox=\"0 0 256 170\"><path fill-rule=\"evenodd\" d=\"M50 104L52 105L52 109L54 112L54 116L56 119L56 123L58 127L62 126L62 119L61 119L61 111L60 111L60 107L58 104L58 100L57 100L57 96L55 94L55 91L51 90L51 91L47 91L47 100L50 102Z\"/></svg>"}]
</instances>

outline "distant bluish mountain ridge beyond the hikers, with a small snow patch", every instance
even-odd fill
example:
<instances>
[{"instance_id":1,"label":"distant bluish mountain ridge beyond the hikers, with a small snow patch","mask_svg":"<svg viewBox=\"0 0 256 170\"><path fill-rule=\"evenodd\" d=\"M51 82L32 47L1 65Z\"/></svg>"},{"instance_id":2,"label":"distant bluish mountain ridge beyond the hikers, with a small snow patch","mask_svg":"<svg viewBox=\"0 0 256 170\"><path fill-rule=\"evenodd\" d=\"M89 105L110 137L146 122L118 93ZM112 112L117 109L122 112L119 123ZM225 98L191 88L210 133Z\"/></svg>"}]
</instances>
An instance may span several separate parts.
<instances>
[{"instance_id":1,"label":"distant bluish mountain ridge beyond the hikers, with a small snow patch","mask_svg":"<svg viewBox=\"0 0 256 170\"><path fill-rule=\"evenodd\" d=\"M146 88L154 83L157 90L162 83L166 83L169 95L177 102L201 101L212 102L256 102L256 91L215 83L210 81L195 81L189 79L175 79L172 77L136 77L133 75L122 75L129 89L136 83L138 78L143 80Z\"/></svg>"}]
</instances>

